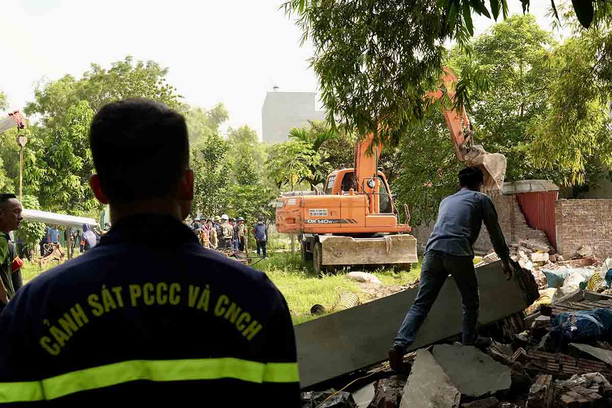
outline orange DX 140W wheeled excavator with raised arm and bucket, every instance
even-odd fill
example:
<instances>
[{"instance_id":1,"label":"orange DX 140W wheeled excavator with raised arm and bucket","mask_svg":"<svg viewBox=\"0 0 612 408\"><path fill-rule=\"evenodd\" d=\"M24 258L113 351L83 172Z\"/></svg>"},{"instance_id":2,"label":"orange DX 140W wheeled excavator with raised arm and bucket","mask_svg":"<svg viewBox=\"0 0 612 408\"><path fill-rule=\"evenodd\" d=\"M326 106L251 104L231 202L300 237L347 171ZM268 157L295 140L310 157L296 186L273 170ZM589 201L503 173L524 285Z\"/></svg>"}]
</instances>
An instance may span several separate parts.
<instances>
[{"instance_id":1,"label":"orange DX 140W wheeled excavator with raised arm and bucket","mask_svg":"<svg viewBox=\"0 0 612 408\"><path fill-rule=\"evenodd\" d=\"M457 76L445 69L442 82L453 97ZM442 89L429 92L440 99ZM457 158L467 166L479 166L485 174L485 190L501 190L506 173L506 157L488 154L472 143L472 129L465 109L442 113L450 130ZM354 168L332 171L324 190L291 191L277 199L278 232L297 234L304 261L312 259L316 272L348 265L395 265L407 267L417 262L416 239L409 234L410 215L403 206L406 223L400 223L400 209L392 199L378 160L383 146L373 146L368 135L355 147Z\"/></svg>"}]
</instances>

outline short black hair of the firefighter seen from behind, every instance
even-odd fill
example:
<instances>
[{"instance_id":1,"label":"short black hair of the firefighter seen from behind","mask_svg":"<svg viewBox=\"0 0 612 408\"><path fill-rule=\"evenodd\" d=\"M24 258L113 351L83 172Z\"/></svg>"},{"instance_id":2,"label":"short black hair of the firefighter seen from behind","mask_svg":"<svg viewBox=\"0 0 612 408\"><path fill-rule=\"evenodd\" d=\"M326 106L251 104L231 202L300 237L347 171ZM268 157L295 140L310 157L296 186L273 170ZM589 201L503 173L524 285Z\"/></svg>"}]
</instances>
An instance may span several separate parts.
<instances>
[{"instance_id":1,"label":"short black hair of the firefighter seen from behind","mask_svg":"<svg viewBox=\"0 0 612 408\"><path fill-rule=\"evenodd\" d=\"M185 118L149 99L103 106L91 122L89 144L111 202L170 197L188 168Z\"/></svg>"}]
</instances>

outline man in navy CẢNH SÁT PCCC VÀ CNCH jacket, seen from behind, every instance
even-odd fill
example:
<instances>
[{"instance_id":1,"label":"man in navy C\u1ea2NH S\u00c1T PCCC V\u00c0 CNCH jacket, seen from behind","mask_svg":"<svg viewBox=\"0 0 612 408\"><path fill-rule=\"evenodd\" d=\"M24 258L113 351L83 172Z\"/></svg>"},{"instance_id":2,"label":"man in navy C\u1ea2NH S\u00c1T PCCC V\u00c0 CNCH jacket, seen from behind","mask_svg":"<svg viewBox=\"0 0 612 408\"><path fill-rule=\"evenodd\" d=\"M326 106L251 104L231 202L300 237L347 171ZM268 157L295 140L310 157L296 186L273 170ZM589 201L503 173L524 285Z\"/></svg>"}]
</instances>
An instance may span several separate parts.
<instances>
[{"instance_id":1,"label":"man in navy C\u1ea2NH S\u00c1T PCCC V\u00c0 CNCH jacket, seen from behind","mask_svg":"<svg viewBox=\"0 0 612 408\"><path fill-rule=\"evenodd\" d=\"M89 141L90 184L113 228L0 315L0 403L299 407L283 295L182 223L193 199L184 118L150 100L114 102Z\"/></svg>"}]
</instances>

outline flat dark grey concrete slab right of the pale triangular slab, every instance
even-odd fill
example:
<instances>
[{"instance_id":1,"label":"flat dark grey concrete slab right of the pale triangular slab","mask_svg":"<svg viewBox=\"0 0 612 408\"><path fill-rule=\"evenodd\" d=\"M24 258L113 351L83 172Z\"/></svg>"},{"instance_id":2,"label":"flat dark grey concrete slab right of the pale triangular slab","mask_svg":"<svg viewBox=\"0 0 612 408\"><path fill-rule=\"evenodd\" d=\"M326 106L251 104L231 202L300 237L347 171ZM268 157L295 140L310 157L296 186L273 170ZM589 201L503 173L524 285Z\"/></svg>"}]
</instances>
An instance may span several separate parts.
<instances>
[{"instance_id":1,"label":"flat dark grey concrete slab right of the pale triangular slab","mask_svg":"<svg viewBox=\"0 0 612 408\"><path fill-rule=\"evenodd\" d=\"M438 344L433 347L433 357L462 395L493 395L512 385L510 368L476 347Z\"/></svg>"}]
</instances>

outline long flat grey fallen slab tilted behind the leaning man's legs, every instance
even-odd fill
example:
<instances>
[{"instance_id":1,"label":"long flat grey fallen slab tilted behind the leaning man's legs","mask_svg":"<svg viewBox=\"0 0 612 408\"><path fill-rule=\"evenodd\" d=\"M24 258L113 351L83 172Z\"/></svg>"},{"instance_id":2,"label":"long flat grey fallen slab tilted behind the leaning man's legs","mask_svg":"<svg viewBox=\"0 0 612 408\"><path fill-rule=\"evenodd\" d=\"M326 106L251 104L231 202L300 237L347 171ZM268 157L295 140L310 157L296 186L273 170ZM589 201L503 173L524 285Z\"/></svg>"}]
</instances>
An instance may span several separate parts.
<instances>
[{"instance_id":1,"label":"long flat grey fallen slab tilted behind the leaning man's legs","mask_svg":"<svg viewBox=\"0 0 612 408\"><path fill-rule=\"evenodd\" d=\"M524 310L539 296L531 273L522 270L507 281L501 261L476 269L480 286L481 324L499 321ZM300 385L324 380L387 360L387 352L418 289L374 300L295 327ZM461 295L452 277L408 351L461 333Z\"/></svg>"}]
</instances>

